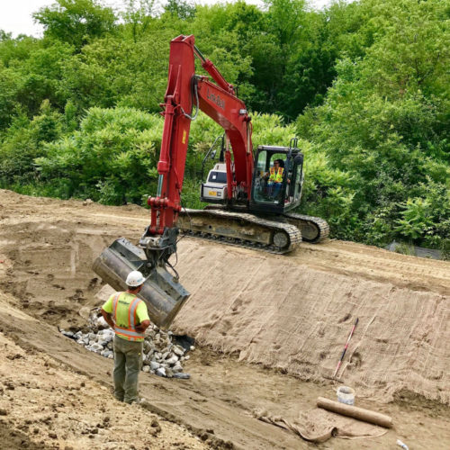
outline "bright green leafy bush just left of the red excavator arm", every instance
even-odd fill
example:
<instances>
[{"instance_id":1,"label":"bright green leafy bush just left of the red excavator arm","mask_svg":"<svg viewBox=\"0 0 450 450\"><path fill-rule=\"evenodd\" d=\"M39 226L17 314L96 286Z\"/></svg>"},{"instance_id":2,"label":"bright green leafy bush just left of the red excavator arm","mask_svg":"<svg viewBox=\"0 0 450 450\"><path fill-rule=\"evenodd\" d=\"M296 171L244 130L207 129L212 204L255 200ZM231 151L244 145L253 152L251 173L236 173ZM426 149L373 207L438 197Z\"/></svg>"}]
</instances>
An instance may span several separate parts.
<instances>
[{"instance_id":1,"label":"bright green leafy bush just left of the red excavator arm","mask_svg":"<svg viewBox=\"0 0 450 450\"><path fill-rule=\"evenodd\" d=\"M64 178L71 195L105 204L140 202L157 179L162 124L130 108L92 108L80 130L45 145L40 179Z\"/></svg>"}]
</instances>

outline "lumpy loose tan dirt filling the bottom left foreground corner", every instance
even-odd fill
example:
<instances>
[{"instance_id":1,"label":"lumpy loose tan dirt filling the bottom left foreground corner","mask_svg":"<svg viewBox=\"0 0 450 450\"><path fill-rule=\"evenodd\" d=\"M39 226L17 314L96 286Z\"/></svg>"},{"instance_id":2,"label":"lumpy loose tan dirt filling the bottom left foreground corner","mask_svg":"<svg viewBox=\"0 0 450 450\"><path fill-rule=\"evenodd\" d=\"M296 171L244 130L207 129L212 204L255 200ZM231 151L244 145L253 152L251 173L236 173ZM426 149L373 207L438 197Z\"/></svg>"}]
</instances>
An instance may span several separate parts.
<instances>
[{"instance_id":1,"label":"lumpy loose tan dirt filling the bottom left foreground corner","mask_svg":"<svg viewBox=\"0 0 450 450\"><path fill-rule=\"evenodd\" d=\"M23 351L3 333L0 346L2 448L206 448L184 428L139 407L106 403L106 387L45 354Z\"/></svg>"}]
</instances>

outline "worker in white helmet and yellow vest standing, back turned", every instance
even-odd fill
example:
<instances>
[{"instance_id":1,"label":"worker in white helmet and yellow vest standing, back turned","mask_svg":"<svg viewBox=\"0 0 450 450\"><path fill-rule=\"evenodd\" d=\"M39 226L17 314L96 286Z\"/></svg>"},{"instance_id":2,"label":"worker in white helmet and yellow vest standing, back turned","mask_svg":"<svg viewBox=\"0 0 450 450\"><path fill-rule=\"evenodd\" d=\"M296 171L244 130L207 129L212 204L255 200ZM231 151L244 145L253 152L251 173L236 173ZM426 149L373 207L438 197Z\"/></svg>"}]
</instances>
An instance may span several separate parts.
<instances>
[{"instance_id":1,"label":"worker in white helmet and yellow vest standing, back turned","mask_svg":"<svg viewBox=\"0 0 450 450\"><path fill-rule=\"evenodd\" d=\"M114 397L125 403L138 401L144 332L150 325L147 305L137 297L144 282L139 271L130 272L125 282L128 290L112 294L102 307L104 320L115 331Z\"/></svg>"}]
</instances>

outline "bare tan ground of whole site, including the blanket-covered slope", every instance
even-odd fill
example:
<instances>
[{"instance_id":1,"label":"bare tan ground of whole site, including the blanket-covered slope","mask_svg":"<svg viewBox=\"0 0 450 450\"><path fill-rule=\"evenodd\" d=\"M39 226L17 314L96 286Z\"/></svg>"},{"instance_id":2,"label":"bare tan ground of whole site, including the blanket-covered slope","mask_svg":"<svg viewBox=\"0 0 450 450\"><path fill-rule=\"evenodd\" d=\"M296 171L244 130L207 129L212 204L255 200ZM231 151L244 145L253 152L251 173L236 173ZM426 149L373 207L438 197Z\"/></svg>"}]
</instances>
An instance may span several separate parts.
<instances>
[{"instance_id":1,"label":"bare tan ground of whole site, including the blanket-covered slope","mask_svg":"<svg viewBox=\"0 0 450 450\"><path fill-rule=\"evenodd\" d=\"M192 297L173 330L197 341L192 377L141 374L143 408L113 401L111 360L58 327L85 326L102 302L94 258L147 224L136 206L0 190L0 447L307 448L257 417L293 420L345 383L394 428L320 448L393 448L397 437L448 448L450 264L342 241L281 257L183 238L176 268Z\"/></svg>"}]
</instances>

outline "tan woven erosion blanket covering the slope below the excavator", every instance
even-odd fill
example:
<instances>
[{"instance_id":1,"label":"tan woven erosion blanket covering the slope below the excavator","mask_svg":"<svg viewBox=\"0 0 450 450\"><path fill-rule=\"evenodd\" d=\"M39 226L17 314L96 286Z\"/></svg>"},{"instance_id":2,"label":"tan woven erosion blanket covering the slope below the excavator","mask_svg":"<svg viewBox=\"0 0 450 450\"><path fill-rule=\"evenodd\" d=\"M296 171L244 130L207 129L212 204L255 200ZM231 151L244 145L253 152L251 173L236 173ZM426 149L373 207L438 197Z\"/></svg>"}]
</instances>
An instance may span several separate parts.
<instances>
[{"instance_id":1,"label":"tan woven erosion blanket covering the slope below the excavator","mask_svg":"<svg viewBox=\"0 0 450 450\"><path fill-rule=\"evenodd\" d=\"M371 255L365 247L364 258L374 259L367 268L346 260L340 270L345 252L330 255L327 267L302 264L309 258L301 251L273 256L182 243L177 270L192 297L175 332L240 360L321 381L334 374L359 318L338 373L342 382L378 401L407 389L450 403L450 296L441 282L425 287L433 276L450 277L448 263L429 274L428 261L419 258L380 257L377 265L376 257L388 252Z\"/></svg>"}]
</instances>

